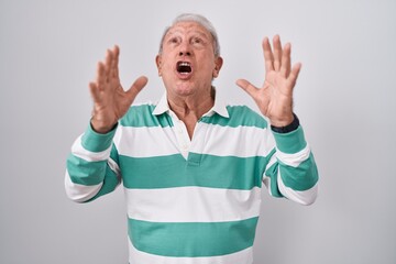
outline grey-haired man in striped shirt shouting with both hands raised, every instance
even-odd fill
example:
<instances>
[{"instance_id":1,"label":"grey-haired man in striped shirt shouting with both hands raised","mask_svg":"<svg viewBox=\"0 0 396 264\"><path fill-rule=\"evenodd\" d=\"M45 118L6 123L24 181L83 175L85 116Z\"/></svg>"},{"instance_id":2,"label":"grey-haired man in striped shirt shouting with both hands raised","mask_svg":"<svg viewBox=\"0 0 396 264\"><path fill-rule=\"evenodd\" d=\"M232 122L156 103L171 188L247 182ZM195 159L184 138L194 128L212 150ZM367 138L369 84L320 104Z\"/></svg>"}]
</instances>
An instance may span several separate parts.
<instances>
[{"instance_id":1,"label":"grey-haired man in striped shirt shouting with both hands raised","mask_svg":"<svg viewBox=\"0 0 396 264\"><path fill-rule=\"evenodd\" d=\"M198 14L164 32L157 103L133 105L147 78L124 91L118 46L98 63L92 118L73 145L65 186L86 202L123 184L131 264L253 263L262 184L274 197L315 201L317 167L293 112L300 64L292 67L290 44L278 36L273 47L265 37L263 50L263 87L237 81L262 116L216 97L219 41Z\"/></svg>"}]
</instances>

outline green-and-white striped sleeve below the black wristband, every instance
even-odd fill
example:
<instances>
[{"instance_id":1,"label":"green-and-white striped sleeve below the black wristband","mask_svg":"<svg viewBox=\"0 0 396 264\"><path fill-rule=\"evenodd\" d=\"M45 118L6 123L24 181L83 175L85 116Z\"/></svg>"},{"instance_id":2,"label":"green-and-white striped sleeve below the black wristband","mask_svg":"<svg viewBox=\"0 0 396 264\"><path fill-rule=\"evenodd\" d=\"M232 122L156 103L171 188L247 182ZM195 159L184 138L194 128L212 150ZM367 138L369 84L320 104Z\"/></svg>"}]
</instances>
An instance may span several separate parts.
<instances>
[{"instance_id":1,"label":"green-and-white striped sleeve below the black wristband","mask_svg":"<svg viewBox=\"0 0 396 264\"><path fill-rule=\"evenodd\" d=\"M271 195L311 205L318 194L318 169L301 127L289 133L272 132L275 148L265 170Z\"/></svg>"}]
</instances>

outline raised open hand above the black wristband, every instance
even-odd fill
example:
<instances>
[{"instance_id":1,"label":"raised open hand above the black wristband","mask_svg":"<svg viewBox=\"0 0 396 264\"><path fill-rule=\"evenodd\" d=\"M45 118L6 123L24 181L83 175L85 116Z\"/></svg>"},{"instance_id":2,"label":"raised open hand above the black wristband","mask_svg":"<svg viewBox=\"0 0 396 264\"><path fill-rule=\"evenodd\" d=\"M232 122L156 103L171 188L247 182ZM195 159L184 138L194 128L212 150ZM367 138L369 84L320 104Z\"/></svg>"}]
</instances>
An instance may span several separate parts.
<instances>
[{"instance_id":1,"label":"raised open hand above the black wristband","mask_svg":"<svg viewBox=\"0 0 396 264\"><path fill-rule=\"evenodd\" d=\"M237 80L256 102L260 111L270 119L272 125L285 127L293 122L293 89L296 85L301 64L292 67L292 45L282 47L278 35L273 40L274 51L267 37L263 41L265 59L265 80L262 88L245 79Z\"/></svg>"}]
</instances>

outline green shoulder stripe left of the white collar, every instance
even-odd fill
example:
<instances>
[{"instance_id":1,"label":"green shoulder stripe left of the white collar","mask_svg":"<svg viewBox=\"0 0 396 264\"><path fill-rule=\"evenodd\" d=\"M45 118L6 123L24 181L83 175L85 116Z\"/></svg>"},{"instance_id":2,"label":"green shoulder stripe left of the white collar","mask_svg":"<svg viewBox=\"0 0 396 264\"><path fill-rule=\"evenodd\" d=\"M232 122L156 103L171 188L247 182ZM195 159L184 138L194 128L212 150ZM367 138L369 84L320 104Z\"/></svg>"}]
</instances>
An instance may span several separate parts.
<instances>
[{"instance_id":1,"label":"green shoulder stripe left of the white collar","mask_svg":"<svg viewBox=\"0 0 396 264\"><path fill-rule=\"evenodd\" d=\"M123 127L173 127L172 119L168 114L163 113L154 116L155 105L133 106L127 114L120 120Z\"/></svg>"}]
</instances>

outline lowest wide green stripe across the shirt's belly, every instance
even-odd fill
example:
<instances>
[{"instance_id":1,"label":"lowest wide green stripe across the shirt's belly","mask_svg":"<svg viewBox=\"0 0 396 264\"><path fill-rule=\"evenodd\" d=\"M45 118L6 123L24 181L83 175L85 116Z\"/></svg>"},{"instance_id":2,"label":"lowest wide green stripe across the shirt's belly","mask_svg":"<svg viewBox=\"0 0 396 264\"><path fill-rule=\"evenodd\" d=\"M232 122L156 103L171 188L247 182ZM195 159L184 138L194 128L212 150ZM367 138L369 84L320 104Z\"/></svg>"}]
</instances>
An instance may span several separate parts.
<instances>
[{"instance_id":1,"label":"lowest wide green stripe across the shirt's belly","mask_svg":"<svg viewBox=\"0 0 396 264\"><path fill-rule=\"evenodd\" d=\"M128 232L140 251L164 256L217 256L253 245L257 217L230 222L147 222L129 219Z\"/></svg>"}]
</instances>

